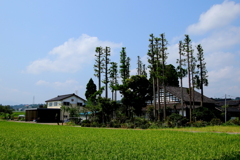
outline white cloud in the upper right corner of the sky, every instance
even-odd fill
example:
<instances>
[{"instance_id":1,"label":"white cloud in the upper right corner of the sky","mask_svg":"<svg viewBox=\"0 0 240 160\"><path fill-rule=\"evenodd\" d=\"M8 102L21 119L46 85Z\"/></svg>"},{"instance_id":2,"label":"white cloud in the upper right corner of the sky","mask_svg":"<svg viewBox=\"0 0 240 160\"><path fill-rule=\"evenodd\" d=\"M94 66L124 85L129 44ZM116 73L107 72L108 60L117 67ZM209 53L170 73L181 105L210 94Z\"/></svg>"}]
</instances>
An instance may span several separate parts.
<instances>
[{"instance_id":1,"label":"white cloud in the upper right corner of the sky","mask_svg":"<svg viewBox=\"0 0 240 160\"><path fill-rule=\"evenodd\" d=\"M203 34L209 30L228 25L240 15L240 4L224 1L213 5L207 12L202 13L199 22L187 28L189 34Z\"/></svg>"}]
</instances>

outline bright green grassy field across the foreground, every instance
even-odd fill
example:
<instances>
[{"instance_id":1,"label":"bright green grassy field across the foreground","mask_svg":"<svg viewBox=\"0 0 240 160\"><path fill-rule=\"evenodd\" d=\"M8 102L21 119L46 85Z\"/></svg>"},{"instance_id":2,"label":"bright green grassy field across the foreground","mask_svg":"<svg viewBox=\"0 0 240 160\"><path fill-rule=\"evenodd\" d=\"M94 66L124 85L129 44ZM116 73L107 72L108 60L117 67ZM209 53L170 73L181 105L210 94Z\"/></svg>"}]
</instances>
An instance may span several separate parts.
<instances>
[{"instance_id":1,"label":"bright green grassy field across the foreground","mask_svg":"<svg viewBox=\"0 0 240 160\"><path fill-rule=\"evenodd\" d=\"M0 159L240 159L240 135L0 121Z\"/></svg>"}]
</instances>

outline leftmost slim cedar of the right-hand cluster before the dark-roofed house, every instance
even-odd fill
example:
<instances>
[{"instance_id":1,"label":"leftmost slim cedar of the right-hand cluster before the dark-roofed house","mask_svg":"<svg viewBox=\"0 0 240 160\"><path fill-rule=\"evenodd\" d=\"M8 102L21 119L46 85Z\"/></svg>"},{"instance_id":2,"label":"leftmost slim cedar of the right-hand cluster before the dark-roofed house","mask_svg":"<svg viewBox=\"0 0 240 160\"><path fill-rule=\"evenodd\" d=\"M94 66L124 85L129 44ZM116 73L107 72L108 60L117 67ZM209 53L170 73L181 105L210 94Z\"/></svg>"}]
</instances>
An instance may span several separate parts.
<instances>
[{"instance_id":1,"label":"leftmost slim cedar of the right-hand cluster before the dark-roofed house","mask_svg":"<svg viewBox=\"0 0 240 160\"><path fill-rule=\"evenodd\" d=\"M182 109L182 116L184 116L183 114L183 82L182 79L183 77L185 77L187 75L187 70L183 68L183 66L186 66L186 59L182 58L182 56L184 56L184 52L183 52L183 44L182 41L179 41L179 59L177 59L177 63L179 64L177 67L177 73L178 73L178 77L180 79L180 87L181 87L181 109Z\"/></svg>"}]
</instances>

